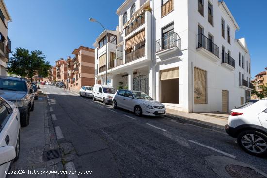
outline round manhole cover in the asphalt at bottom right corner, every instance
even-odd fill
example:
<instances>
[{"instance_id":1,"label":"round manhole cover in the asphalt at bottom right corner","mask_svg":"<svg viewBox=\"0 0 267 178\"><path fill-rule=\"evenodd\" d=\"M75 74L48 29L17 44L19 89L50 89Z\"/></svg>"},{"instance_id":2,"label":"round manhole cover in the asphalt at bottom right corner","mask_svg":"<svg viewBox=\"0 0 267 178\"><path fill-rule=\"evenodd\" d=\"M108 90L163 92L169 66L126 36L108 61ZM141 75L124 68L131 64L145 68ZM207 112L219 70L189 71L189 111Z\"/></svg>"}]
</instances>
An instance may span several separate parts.
<instances>
[{"instance_id":1,"label":"round manhole cover in the asphalt at bottom right corner","mask_svg":"<svg viewBox=\"0 0 267 178\"><path fill-rule=\"evenodd\" d=\"M254 169L239 165L227 165L225 170L232 178L266 178Z\"/></svg>"}]
</instances>

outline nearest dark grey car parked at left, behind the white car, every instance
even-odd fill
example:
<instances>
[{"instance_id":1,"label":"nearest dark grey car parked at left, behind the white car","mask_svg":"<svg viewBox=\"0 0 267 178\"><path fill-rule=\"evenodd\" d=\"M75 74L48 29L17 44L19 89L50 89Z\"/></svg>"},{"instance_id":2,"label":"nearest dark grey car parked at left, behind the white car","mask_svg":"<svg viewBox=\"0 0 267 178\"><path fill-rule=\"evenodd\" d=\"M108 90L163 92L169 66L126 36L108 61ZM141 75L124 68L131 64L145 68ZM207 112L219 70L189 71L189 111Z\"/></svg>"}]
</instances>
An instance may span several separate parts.
<instances>
[{"instance_id":1,"label":"nearest dark grey car parked at left, behind the white car","mask_svg":"<svg viewBox=\"0 0 267 178\"><path fill-rule=\"evenodd\" d=\"M21 126L27 126L30 111L34 110L34 89L31 82L25 78L0 76L0 96L17 106Z\"/></svg>"}]
</instances>

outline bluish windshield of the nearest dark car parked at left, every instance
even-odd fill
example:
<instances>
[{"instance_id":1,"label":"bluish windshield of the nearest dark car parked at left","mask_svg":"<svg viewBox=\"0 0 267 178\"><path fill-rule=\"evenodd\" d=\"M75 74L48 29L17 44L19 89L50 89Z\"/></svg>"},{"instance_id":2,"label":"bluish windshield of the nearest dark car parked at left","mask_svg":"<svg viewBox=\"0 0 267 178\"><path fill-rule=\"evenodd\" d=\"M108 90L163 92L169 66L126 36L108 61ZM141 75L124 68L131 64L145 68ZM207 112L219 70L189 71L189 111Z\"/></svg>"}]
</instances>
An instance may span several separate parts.
<instances>
[{"instance_id":1,"label":"bluish windshield of the nearest dark car parked at left","mask_svg":"<svg viewBox=\"0 0 267 178\"><path fill-rule=\"evenodd\" d=\"M0 79L0 90L27 92L25 81Z\"/></svg>"}]
</instances>

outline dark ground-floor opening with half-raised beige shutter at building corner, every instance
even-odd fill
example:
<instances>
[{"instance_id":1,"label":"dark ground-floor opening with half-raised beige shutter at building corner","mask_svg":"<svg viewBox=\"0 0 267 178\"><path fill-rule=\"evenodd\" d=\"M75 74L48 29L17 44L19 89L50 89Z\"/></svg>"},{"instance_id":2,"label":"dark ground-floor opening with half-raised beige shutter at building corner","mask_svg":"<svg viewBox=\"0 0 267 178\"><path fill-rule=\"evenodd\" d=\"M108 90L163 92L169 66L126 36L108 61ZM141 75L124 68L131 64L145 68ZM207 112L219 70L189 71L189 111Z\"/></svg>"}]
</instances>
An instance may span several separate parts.
<instances>
[{"instance_id":1,"label":"dark ground-floor opening with half-raised beige shutter at building corner","mask_svg":"<svg viewBox=\"0 0 267 178\"><path fill-rule=\"evenodd\" d=\"M179 104L179 68L160 71L161 102Z\"/></svg>"}]
</instances>

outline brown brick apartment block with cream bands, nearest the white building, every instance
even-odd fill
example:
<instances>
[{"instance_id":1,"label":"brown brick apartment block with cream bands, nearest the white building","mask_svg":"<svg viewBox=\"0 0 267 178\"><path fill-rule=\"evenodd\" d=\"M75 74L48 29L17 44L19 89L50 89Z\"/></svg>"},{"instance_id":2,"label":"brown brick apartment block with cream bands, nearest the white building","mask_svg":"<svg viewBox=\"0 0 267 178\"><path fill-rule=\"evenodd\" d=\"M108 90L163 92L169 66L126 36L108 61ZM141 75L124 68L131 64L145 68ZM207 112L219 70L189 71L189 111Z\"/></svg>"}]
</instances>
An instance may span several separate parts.
<instances>
[{"instance_id":1,"label":"brown brick apartment block with cream bands, nearest the white building","mask_svg":"<svg viewBox=\"0 0 267 178\"><path fill-rule=\"evenodd\" d=\"M69 59L68 64L70 88L80 90L82 86L94 86L94 49L80 46L78 49L74 49L72 54L74 58L72 60ZM72 66L73 70L70 72Z\"/></svg>"}]
</instances>

